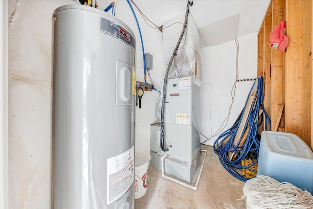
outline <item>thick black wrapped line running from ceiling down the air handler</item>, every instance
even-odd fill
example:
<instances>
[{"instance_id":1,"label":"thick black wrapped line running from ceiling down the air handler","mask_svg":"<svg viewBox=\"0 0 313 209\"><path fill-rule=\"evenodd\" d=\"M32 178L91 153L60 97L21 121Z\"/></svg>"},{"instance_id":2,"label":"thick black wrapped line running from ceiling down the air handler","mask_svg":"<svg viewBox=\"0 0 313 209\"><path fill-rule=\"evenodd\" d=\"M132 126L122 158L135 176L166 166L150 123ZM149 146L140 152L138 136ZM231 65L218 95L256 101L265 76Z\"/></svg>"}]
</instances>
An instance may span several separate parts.
<instances>
[{"instance_id":1,"label":"thick black wrapped line running from ceiling down the air handler","mask_svg":"<svg viewBox=\"0 0 313 209\"><path fill-rule=\"evenodd\" d=\"M179 36L179 40L176 44L176 47L174 48L174 51L173 51L173 54L171 56L171 59L168 63L168 66L167 66L167 69L166 69L166 72L165 72L165 77L164 77L164 84L163 84L163 96L162 96L162 106L161 106L161 138L160 138L160 147L161 147L161 150L164 151L164 152L167 152L169 149L168 147L165 147L166 145L164 144L164 108L165 108L165 99L166 99L166 89L167 89L167 79L168 79L168 74L169 74L169 71L170 71L170 68L173 64L173 61L174 61L174 58L177 56L177 52L178 52L178 49L179 49L179 45L180 45L180 42L182 40L182 37L186 31L186 28L187 28L187 23L188 23L188 16L189 16L189 9L190 9L190 6L193 4L193 0L188 0L187 1L187 8L186 8L186 14L185 14L185 20L184 20L184 25L182 27L182 30L181 30L181 33L180 33L180 36ZM165 146L164 146L165 145Z\"/></svg>"}]
</instances>

